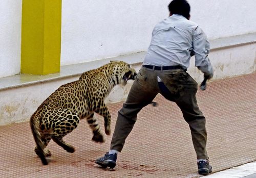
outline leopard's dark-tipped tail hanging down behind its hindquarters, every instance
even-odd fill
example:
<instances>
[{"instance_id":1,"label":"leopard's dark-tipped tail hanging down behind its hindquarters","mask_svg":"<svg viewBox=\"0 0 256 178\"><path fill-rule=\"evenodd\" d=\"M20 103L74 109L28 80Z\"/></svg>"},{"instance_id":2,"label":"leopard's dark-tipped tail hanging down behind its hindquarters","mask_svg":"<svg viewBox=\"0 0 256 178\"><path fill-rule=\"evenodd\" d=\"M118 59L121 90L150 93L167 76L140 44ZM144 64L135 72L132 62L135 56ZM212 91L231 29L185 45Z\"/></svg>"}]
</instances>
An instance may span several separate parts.
<instances>
[{"instance_id":1,"label":"leopard's dark-tipped tail hanging down behind its hindquarters","mask_svg":"<svg viewBox=\"0 0 256 178\"><path fill-rule=\"evenodd\" d=\"M47 165L48 161L45 156L45 152L43 149L43 143L40 138L40 133L39 133L39 119L35 116L32 115L30 118L30 128L32 131L32 134L35 139L36 147L37 147L37 155L41 159L42 164Z\"/></svg>"}]
</instances>

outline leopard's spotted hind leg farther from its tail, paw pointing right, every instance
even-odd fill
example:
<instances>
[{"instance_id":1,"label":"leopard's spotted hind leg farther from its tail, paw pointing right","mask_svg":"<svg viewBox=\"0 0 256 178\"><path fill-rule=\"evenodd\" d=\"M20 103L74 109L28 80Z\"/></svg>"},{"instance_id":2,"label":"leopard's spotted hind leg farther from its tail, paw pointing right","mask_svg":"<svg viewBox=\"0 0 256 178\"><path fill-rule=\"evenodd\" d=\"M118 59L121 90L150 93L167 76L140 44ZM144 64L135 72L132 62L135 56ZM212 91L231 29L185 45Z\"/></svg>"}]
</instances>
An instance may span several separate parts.
<instances>
[{"instance_id":1,"label":"leopard's spotted hind leg farther from its tail, paw pointing right","mask_svg":"<svg viewBox=\"0 0 256 178\"><path fill-rule=\"evenodd\" d=\"M54 130L51 135L52 140L68 152L74 152L75 148L63 141L63 137L71 133L79 123L79 116L75 112L60 109L59 117L54 120Z\"/></svg>"}]
</instances>

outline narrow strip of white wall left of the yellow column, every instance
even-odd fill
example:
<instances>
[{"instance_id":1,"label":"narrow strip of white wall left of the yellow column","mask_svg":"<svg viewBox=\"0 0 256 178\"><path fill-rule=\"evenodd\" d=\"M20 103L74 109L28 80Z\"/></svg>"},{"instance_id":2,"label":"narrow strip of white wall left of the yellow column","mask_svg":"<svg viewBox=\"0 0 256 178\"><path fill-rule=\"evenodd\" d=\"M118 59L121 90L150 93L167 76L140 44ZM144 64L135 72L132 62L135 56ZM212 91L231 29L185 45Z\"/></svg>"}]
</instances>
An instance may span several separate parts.
<instances>
[{"instance_id":1,"label":"narrow strip of white wall left of the yellow column","mask_svg":"<svg viewBox=\"0 0 256 178\"><path fill-rule=\"evenodd\" d=\"M0 1L0 78L20 71L22 0Z\"/></svg>"}]
</instances>

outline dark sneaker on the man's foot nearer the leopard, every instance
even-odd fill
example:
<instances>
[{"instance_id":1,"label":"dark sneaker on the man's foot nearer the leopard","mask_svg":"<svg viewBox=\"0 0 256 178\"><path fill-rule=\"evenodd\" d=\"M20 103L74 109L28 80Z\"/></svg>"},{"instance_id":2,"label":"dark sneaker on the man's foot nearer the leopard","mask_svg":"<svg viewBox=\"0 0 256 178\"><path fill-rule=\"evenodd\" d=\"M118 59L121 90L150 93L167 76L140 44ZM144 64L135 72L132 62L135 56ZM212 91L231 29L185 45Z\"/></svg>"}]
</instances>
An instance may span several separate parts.
<instances>
[{"instance_id":1,"label":"dark sneaker on the man's foot nearer the leopard","mask_svg":"<svg viewBox=\"0 0 256 178\"><path fill-rule=\"evenodd\" d=\"M95 163L106 168L114 168L116 166L116 159L117 159L117 153L116 154L109 154L109 152L106 152L104 157L98 158Z\"/></svg>"}]
</instances>

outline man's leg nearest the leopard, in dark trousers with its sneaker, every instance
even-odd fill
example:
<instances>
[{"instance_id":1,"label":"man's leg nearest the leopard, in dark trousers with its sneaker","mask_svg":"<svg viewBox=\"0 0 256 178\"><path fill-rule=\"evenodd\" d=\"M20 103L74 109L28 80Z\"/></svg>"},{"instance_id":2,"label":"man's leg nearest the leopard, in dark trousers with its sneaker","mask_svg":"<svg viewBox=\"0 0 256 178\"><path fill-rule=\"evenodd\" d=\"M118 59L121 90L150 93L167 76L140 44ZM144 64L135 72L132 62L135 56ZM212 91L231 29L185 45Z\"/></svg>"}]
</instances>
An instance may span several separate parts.
<instances>
[{"instance_id":1,"label":"man's leg nearest the leopard, in dark trousers with its sneaker","mask_svg":"<svg viewBox=\"0 0 256 178\"><path fill-rule=\"evenodd\" d=\"M150 69L141 68L133 83L122 109L118 112L114 134L111 141L111 150L96 163L103 167L110 167L106 158L113 156L116 162L116 152L121 152L125 139L130 134L137 120L138 112L150 104L158 93L156 73ZM111 166L115 167L113 161Z\"/></svg>"}]
</instances>

